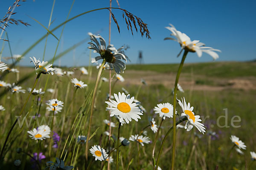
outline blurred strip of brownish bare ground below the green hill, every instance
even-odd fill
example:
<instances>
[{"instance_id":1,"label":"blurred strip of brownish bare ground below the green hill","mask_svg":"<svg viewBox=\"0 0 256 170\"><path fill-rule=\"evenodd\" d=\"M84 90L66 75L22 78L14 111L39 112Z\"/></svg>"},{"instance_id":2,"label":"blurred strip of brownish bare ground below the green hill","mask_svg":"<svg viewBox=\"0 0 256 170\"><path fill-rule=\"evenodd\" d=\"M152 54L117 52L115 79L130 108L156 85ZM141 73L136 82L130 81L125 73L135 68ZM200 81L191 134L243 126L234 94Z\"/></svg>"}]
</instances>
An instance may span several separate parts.
<instances>
[{"instance_id":1,"label":"blurred strip of brownish bare ground below the green hill","mask_svg":"<svg viewBox=\"0 0 256 170\"><path fill-rule=\"evenodd\" d=\"M155 71L125 71L125 82L139 85L144 79L148 85L163 84L166 88L173 88L175 74L158 73ZM198 82L198 79L207 79L206 82ZM201 75L181 74L179 84L184 90L192 88L198 91L222 91L225 89L256 90L256 77L218 78Z\"/></svg>"}]
</instances>

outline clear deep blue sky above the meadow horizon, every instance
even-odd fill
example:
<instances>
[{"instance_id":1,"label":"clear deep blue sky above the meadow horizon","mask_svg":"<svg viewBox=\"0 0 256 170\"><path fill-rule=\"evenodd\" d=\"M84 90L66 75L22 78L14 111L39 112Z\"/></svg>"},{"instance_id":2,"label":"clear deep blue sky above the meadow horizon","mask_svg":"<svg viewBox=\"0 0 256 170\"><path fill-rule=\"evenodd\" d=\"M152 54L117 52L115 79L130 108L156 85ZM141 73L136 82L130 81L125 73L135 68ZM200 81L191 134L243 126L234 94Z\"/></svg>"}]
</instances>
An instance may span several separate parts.
<instances>
[{"instance_id":1,"label":"clear deep blue sky above the meadow horizon","mask_svg":"<svg viewBox=\"0 0 256 170\"><path fill-rule=\"evenodd\" d=\"M14 0L0 2L0 15L3 16ZM8 31L13 54L22 54L30 45L46 33L46 30L29 18L31 16L48 26L49 16L52 9L53 0L29 0L20 2L15 9L12 18L28 22L31 26L10 25ZM52 20L54 22L50 28L65 21L72 0L56 0ZM113 7L118 7L115 0ZM111 24L111 44L116 48L126 44L130 48L126 55L131 62L136 63L139 51L143 51L145 63L178 63L181 58L177 58L180 46L177 42L163 39L168 37L170 31L165 27L172 23L177 30L187 34L192 40L200 40L206 46L220 49L217 61L246 61L256 59L255 39L256 39L256 1L252 0L119 0L121 8L140 17L144 23L148 24L151 39L141 37L140 33L127 30L125 21L122 18L122 11L113 9L121 33L117 31L116 25ZM96 8L109 7L107 0L76 0L70 17ZM67 23L62 37L58 53L64 51L75 43L88 37L88 32L99 32L108 42L108 10L95 11L85 14ZM59 28L54 34L59 37ZM4 36L2 37L4 38ZM89 42L89 40L88 40ZM3 41L0 41L2 47ZM44 51L43 40L38 44L26 58L21 61L21 65L31 65L29 57L42 58ZM57 45L57 40L49 36L45 60L53 57ZM89 63L88 44L76 48L61 58L62 66L81 66ZM3 57L10 56L8 44L5 42ZM75 58L74 58L75 56ZM96 57L96 54L93 54ZM2 59L3 62L5 62ZM196 54L189 53L186 62L210 62L212 57L203 54L198 58ZM9 61L10 62L10 61ZM8 62L7 62L8 63ZM57 65L59 62L56 61Z\"/></svg>"}]
</instances>

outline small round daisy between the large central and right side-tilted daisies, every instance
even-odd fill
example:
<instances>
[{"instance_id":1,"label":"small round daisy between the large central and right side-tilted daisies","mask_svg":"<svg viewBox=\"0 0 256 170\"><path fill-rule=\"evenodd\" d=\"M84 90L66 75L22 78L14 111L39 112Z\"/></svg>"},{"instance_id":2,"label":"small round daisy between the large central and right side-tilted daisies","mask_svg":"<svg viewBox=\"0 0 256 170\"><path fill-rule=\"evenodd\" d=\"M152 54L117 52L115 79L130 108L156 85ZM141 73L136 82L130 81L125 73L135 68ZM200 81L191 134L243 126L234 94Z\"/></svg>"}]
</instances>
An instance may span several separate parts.
<instances>
[{"instance_id":1,"label":"small round daisy between the large central and right side-tilted daisies","mask_svg":"<svg viewBox=\"0 0 256 170\"><path fill-rule=\"evenodd\" d=\"M159 113L159 116L165 119L166 117L173 116L173 106L170 103L160 103L157 104L157 107L154 108L156 114Z\"/></svg>"}]
</instances>

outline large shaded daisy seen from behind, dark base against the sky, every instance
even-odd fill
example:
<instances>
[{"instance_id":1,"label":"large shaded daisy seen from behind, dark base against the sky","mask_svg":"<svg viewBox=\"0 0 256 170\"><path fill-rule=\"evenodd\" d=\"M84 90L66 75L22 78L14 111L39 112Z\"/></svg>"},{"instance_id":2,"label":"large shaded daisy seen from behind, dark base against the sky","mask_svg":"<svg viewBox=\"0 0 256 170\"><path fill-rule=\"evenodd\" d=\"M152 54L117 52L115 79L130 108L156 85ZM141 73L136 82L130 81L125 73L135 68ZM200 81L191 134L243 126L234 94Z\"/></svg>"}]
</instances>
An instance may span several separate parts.
<instances>
[{"instance_id":1,"label":"large shaded daisy seen from behind, dark base against the sky","mask_svg":"<svg viewBox=\"0 0 256 170\"><path fill-rule=\"evenodd\" d=\"M90 47L88 48L93 49L94 53L99 54L99 56L92 59L92 63L98 61L99 59L105 59L110 69L114 69L116 74L120 74L121 71L123 72L126 66L122 60L125 60L125 62L127 62L127 60L125 55L120 51L124 47L116 49L113 45L106 46L106 41L100 35L96 36L91 33L89 33L89 35L92 42L88 42L88 44L90 44Z\"/></svg>"}]
</instances>

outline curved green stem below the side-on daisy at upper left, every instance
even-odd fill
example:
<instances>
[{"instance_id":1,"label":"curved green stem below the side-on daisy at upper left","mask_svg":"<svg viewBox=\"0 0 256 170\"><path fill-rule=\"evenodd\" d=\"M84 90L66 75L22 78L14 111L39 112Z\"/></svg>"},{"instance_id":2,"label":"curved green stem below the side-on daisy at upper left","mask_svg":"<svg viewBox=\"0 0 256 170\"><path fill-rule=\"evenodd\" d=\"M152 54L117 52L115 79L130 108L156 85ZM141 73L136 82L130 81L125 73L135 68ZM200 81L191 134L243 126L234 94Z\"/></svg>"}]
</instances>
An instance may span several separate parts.
<instances>
[{"instance_id":1,"label":"curved green stem below the side-on daisy at upper left","mask_svg":"<svg viewBox=\"0 0 256 170\"><path fill-rule=\"evenodd\" d=\"M34 85L33 85L33 87L32 87L32 90L30 91L29 96L27 97L26 102L24 103L23 108L21 109L19 116L17 117L17 119L16 119L15 122L13 123L11 129L9 130L9 132L8 132L8 134L7 134L7 136L6 136L6 140L5 140L4 144L3 144L3 147L2 147L2 150L1 150L1 153L0 153L0 160L2 160L3 151L4 151L4 148L6 147L6 143L7 143L8 139L9 139L9 136L10 136L10 134L12 133L13 128L14 128L15 125L17 124L18 119L20 118L21 114L23 113L23 111L24 111L24 109L25 109L25 107L26 107L26 104L28 103L29 98L30 98L30 96L31 96L31 94L32 94L32 91L34 91L35 86L36 86L36 84L38 83L38 79L39 79L40 75L41 75L41 73L39 73L39 74L37 75L37 77L36 77L36 79L35 79L35 83L34 83Z\"/></svg>"}]
</instances>

